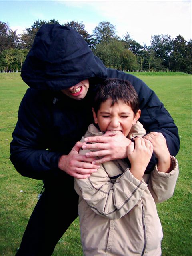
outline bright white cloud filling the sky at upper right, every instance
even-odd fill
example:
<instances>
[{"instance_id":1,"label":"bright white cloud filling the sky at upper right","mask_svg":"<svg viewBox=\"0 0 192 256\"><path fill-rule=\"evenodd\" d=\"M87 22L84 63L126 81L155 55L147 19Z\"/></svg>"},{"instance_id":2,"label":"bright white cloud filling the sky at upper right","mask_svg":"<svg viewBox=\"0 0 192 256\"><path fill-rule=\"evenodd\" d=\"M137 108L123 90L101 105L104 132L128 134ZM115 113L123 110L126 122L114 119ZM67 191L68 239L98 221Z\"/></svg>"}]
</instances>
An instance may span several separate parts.
<instances>
[{"instance_id":1,"label":"bright white cloud filling the sky at upper right","mask_svg":"<svg viewBox=\"0 0 192 256\"><path fill-rule=\"evenodd\" d=\"M116 26L118 36L122 37L128 32L141 44L150 44L151 36L156 34L170 34L172 38L181 34L186 40L192 38L190 0L56 0L56 2L81 10L91 8L96 12L95 16L103 17L100 21L109 21ZM84 22L84 24L90 34L98 25L95 22Z\"/></svg>"}]
</instances>

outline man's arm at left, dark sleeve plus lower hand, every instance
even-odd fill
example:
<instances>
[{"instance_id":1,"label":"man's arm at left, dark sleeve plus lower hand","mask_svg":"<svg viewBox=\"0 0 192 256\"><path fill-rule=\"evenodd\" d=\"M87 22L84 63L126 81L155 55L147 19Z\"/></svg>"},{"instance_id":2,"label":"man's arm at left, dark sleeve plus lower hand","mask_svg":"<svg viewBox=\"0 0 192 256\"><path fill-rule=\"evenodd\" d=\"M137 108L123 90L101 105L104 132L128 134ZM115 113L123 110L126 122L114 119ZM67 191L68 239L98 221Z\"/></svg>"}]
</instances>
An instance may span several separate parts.
<instances>
[{"instance_id":1,"label":"man's arm at left, dark sleeve plus lower hand","mask_svg":"<svg viewBox=\"0 0 192 256\"><path fill-rule=\"evenodd\" d=\"M20 104L18 122L10 143L10 160L16 170L22 176L35 179L57 176L62 171L71 176L78 175L79 178L90 176L96 166L90 163L85 166L82 162L85 156L74 159L74 154L64 156L60 152L47 150L49 138L46 138L46 127L43 121L47 114L37 91L29 89ZM70 162L68 166L65 157ZM86 158L86 161L93 160L94 158Z\"/></svg>"}]
</instances>

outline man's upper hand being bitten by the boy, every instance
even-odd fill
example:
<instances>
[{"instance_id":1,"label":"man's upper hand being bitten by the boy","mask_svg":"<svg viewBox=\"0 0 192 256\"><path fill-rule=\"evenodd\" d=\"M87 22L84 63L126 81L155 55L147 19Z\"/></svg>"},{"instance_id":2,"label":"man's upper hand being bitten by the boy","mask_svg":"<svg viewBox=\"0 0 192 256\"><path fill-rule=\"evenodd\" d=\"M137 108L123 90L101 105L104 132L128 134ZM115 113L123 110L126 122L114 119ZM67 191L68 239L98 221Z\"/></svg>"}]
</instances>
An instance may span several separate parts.
<instances>
[{"instance_id":1,"label":"man's upper hand being bitten by the boy","mask_svg":"<svg viewBox=\"0 0 192 256\"><path fill-rule=\"evenodd\" d=\"M127 146L130 140L122 132L114 134L107 131L103 136L87 137L86 142L96 142L82 146L83 149L97 150L86 153L86 157L102 157L94 160L92 164L102 164L114 159L123 159L127 157Z\"/></svg>"}]
</instances>

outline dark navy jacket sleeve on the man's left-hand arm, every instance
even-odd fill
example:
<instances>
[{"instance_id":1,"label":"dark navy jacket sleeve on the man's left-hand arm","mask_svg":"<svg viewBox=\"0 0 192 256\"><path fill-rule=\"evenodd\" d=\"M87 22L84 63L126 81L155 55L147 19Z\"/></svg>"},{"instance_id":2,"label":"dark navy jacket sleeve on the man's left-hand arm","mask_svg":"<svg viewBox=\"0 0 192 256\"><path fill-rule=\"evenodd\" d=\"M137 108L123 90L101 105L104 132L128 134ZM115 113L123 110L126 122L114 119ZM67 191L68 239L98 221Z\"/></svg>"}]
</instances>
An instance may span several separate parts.
<instances>
[{"instance_id":1,"label":"dark navy jacket sleeve on the man's left-hand arm","mask_svg":"<svg viewBox=\"0 0 192 256\"><path fill-rule=\"evenodd\" d=\"M60 154L47 150L45 113L34 89L28 89L18 111L18 122L10 143L10 160L22 175L44 179L54 173Z\"/></svg>"}]
</instances>

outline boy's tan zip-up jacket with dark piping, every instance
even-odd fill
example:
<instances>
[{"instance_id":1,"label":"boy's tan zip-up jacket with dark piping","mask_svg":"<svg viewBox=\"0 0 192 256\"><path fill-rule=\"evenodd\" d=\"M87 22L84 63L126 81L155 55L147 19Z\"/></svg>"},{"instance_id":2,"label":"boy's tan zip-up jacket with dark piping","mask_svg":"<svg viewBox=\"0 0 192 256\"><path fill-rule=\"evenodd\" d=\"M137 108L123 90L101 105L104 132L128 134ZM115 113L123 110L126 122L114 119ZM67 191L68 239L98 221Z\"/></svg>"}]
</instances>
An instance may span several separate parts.
<instances>
[{"instance_id":1,"label":"boy's tan zip-up jacket with dark piping","mask_svg":"<svg viewBox=\"0 0 192 256\"><path fill-rule=\"evenodd\" d=\"M91 124L84 137L101 134ZM161 255L163 233L155 202L170 198L174 192L178 162L171 158L170 173L158 172L155 167L141 182L124 160L106 162L90 178L75 179L85 256Z\"/></svg>"}]
</instances>

